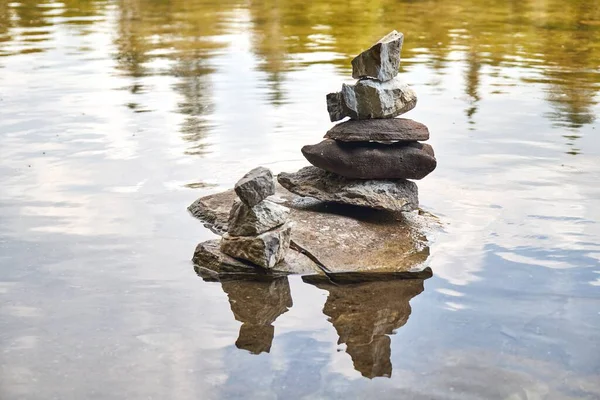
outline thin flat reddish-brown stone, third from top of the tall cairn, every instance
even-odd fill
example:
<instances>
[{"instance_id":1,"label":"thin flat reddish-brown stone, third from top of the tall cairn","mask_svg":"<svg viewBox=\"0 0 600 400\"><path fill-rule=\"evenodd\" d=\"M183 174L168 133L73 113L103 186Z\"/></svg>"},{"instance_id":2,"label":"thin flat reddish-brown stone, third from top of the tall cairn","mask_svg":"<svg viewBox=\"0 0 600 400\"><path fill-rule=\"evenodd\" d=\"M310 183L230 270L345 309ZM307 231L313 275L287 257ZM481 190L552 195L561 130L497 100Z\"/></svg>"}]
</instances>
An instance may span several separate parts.
<instances>
[{"instance_id":1,"label":"thin flat reddish-brown stone, third from top of the tall cairn","mask_svg":"<svg viewBox=\"0 0 600 400\"><path fill-rule=\"evenodd\" d=\"M406 118L346 121L331 128L326 139L344 142L413 142L429 139L429 129Z\"/></svg>"}]
</instances>

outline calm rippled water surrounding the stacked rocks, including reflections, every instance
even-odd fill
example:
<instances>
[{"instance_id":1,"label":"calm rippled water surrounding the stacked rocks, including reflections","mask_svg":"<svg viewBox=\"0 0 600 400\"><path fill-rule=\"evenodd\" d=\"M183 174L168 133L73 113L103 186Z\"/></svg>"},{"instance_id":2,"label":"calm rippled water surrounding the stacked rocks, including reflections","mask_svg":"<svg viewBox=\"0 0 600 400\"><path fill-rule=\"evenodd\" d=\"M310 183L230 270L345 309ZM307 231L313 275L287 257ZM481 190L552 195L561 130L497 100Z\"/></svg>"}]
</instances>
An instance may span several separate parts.
<instances>
[{"instance_id":1,"label":"calm rippled water surrounding the stacked rocks, including reflections","mask_svg":"<svg viewBox=\"0 0 600 400\"><path fill-rule=\"evenodd\" d=\"M200 279L187 205L391 29L434 278ZM599 91L593 0L0 0L0 398L600 398Z\"/></svg>"}]
</instances>

